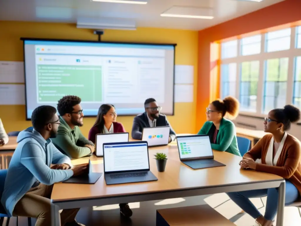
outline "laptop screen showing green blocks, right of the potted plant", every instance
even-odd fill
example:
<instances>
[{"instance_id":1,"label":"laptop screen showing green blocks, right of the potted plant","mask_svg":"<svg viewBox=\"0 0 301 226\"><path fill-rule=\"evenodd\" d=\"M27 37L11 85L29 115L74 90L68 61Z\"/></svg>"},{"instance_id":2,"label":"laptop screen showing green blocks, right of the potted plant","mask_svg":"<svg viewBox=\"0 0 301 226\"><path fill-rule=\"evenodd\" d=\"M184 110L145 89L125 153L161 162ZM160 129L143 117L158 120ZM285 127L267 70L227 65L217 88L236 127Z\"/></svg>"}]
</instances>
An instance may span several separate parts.
<instances>
[{"instance_id":1,"label":"laptop screen showing green blocks, right of the potted plant","mask_svg":"<svg viewBox=\"0 0 301 226\"><path fill-rule=\"evenodd\" d=\"M213 157L208 136L177 137L180 159L206 159Z\"/></svg>"}]
</instances>

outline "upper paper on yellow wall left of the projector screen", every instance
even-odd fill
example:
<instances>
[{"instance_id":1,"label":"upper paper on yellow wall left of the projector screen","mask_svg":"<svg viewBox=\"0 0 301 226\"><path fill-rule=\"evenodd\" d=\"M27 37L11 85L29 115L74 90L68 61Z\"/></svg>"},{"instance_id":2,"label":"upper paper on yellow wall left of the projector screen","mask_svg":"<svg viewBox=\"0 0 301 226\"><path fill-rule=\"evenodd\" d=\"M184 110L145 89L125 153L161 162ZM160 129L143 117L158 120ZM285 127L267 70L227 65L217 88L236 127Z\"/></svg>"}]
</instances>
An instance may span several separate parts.
<instances>
[{"instance_id":1,"label":"upper paper on yellow wall left of the projector screen","mask_svg":"<svg viewBox=\"0 0 301 226\"><path fill-rule=\"evenodd\" d=\"M0 61L0 83L24 83L24 63Z\"/></svg>"}]
</instances>

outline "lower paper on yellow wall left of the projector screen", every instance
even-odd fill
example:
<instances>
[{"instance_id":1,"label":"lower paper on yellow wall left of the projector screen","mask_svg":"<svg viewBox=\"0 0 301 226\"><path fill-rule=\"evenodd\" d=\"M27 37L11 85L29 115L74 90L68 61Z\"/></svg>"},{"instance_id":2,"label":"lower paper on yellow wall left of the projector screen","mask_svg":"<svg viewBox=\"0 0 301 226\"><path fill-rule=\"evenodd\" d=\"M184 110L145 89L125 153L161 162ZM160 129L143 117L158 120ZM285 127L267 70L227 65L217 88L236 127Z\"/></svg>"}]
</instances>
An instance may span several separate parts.
<instances>
[{"instance_id":1,"label":"lower paper on yellow wall left of the projector screen","mask_svg":"<svg viewBox=\"0 0 301 226\"><path fill-rule=\"evenodd\" d=\"M24 84L0 84L0 105L25 105Z\"/></svg>"}]
</instances>

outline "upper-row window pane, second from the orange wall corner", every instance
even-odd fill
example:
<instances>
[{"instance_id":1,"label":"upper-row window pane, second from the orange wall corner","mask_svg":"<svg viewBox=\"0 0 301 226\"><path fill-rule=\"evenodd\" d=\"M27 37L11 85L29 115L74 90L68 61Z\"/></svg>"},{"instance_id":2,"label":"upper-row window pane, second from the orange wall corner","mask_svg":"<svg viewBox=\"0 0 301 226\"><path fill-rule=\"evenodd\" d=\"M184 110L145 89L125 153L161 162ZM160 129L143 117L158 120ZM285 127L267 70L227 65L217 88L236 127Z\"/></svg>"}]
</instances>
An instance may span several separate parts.
<instances>
[{"instance_id":1,"label":"upper-row window pane, second from the orange wall corner","mask_svg":"<svg viewBox=\"0 0 301 226\"><path fill-rule=\"evenodd\" d=\"M240 41L241 52L240 55L254 55L260 53L261 35L255 35L243 38Z\"/></svg>"}]
</instances>

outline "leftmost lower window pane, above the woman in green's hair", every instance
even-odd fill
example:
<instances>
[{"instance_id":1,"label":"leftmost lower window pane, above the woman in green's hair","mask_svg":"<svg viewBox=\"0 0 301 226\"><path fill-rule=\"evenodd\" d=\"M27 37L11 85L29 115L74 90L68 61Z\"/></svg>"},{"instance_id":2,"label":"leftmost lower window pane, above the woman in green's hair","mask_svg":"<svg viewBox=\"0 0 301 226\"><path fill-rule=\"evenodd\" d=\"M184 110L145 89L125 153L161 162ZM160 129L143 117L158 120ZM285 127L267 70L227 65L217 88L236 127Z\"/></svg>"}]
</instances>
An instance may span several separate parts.
<instances>
[{"instance_id":1,"label":"leftmost lower window pane, above the woman in green's hair","mask_svg":"<svg viewBox=\"0 0 301 226\"><path fill-rule=\"evenodd\" d=\"M235 96L236 90L236 63L222 64L221 94L222 98L226 96Z\"/></svg>"}]
</instances>

